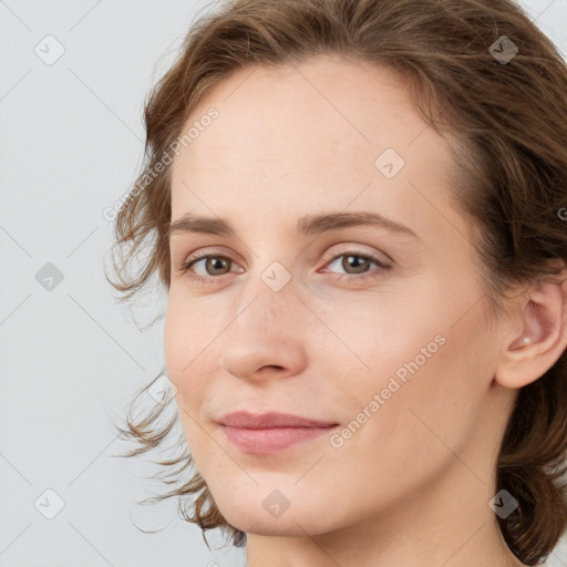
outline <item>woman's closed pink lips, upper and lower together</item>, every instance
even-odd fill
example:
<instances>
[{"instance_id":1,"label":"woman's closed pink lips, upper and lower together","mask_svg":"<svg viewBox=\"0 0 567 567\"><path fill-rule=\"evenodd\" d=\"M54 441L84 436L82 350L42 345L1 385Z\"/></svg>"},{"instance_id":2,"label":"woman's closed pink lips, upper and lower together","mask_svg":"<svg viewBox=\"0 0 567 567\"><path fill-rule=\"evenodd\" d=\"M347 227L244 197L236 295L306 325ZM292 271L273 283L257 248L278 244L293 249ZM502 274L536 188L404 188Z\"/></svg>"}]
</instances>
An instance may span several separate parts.
<instances>
[{"instance_id":1,"label":"woman's closed pink lips, upper and lower together","mask_svg":"<svg viewBox=\"0 0 567 567\"><path fill-rule=\"evenodd\" d=\"M234 412L219 420L228 440L240 451L270 454L328 433L338 424L269 412Z\"/></svg>"}]
</instances>

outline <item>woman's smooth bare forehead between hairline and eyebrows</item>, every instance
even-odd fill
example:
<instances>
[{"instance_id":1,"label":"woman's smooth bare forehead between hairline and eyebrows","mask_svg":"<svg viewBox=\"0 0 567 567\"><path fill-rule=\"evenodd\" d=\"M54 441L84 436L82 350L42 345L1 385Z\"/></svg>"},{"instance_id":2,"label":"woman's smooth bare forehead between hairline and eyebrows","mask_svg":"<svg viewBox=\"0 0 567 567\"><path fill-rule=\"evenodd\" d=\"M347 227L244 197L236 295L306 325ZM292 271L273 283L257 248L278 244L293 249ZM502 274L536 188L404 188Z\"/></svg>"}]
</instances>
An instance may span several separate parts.
<instances>
[{"instance_id":1,"label":"woman's smooth bare forehead between hairline and eyebrows","mask_svg":"<svg viewBox=\"0 0 567 567\"><path fill-rule=\"evenodd\" d=\"M401 218L400 203L421 207L420 188L435 187L435 200L446 185L445 140L384 66L318 56L240 69L205 93L183 132L212 107L218 116L174 159L174 218L188 208L210 214L207 203L230 213L259 203L289 209L300 199L303 210L316 210L346 208L353 198L357 208ZM400 168L391 178L380 169L388 162Z\"/></svg>"}]
</instances>

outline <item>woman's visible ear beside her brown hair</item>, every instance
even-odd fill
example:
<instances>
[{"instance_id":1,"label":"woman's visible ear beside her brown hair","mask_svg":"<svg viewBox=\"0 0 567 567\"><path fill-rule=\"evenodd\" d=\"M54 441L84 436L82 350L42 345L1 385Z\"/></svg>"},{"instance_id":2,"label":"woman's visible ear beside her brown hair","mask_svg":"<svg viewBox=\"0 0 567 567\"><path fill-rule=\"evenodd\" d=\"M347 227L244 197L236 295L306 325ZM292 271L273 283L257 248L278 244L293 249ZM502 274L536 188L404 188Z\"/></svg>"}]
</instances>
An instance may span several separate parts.
<instances>
[{"instance_id":1,"label":"woman's visible ear beside her brown hair","mask_svg":"<svg viewBox=\"0 0 567 567\"><path fill-rule=\"evenodd\" d=\"M518 328L522 331L518 333ZM517 315L506 327L495 381L522 388L544 375L567 348L567 269L522 293Z\"/></svg>"}]
</instances>

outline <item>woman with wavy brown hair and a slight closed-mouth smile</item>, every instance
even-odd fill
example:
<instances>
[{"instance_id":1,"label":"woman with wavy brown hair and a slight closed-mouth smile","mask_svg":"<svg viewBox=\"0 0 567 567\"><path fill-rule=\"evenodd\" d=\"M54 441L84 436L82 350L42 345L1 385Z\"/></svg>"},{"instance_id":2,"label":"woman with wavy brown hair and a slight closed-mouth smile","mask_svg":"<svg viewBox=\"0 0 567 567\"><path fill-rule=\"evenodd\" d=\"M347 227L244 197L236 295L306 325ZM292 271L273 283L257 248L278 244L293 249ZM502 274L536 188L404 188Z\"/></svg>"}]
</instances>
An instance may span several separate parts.
<instances>
[{"instance_id":1,"label":"woman with wavy brown hair and a slight closed-mouth smile","mask_svg":"<svg viewBox=\"0 0 567 567\"><path fill-rule=\"evenodd\" d=\"M566 93L508 0L241 0L193 25L147 101L113 284L167 289L176 412L123 434L135 455L183 426L163 464L190 477L163 497L193 497L185 519L249 567L549 555Z\"/></svg>"}]
</instances>

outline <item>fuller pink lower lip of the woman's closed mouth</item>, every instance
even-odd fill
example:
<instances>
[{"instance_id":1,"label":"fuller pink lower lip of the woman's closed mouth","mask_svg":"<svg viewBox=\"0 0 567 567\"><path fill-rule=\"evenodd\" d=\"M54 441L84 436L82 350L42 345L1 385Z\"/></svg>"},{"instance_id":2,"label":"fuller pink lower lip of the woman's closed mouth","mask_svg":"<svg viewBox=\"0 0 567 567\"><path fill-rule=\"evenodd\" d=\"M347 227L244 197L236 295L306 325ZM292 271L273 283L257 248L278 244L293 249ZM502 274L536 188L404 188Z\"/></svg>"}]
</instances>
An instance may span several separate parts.
<instances>
[{"instance_id":1,"label":"fuller pink lower lip of the woman's closed mouth","mask_svg":"<svg viewBox=\"0 0 567 567\"><path fill-rule=\"evenodd\" d=\"M251 430L223 425L223 431L228 440L240 451L255 455L266 455L320 437L326 433L330 433L336 427L337 425L328 427L270 427Z\"/></svg>"}]
</instances>

